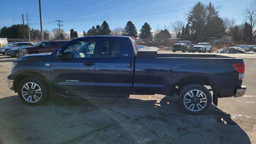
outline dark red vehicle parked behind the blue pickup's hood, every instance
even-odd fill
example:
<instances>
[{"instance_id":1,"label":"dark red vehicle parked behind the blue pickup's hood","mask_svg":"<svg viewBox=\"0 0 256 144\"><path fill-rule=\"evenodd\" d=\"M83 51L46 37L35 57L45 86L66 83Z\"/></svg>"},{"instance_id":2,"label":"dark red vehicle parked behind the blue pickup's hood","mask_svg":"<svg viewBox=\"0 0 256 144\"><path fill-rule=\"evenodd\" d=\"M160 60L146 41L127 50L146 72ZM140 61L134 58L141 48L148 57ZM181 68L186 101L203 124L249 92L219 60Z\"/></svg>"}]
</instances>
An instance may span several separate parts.
<instances>
[{"instance_id":1,"label":"dark red vehicle parked behind the blue pickup's hood","mask_svg":"<svg viewBox=\"0 0 256 144\"><path fill-rule=\"evenodd\" d=\"M68 40L38 42L31 47L20 48L20 55L53 52L54 50L56 50L66 42L68 42Z\"/></svg>"}]
</instances>

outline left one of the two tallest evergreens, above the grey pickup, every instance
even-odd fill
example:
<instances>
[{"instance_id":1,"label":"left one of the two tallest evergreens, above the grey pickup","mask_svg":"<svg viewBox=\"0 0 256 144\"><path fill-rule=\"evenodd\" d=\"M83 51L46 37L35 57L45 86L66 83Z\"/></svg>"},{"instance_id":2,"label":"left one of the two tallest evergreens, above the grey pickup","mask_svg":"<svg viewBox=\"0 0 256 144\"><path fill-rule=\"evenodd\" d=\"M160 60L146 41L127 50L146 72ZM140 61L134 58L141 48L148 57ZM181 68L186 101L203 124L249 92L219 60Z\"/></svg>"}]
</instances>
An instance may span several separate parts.
<instances>
[{"instance_id":1,"label":"left one of the two tallest evergreens, above the grey pickup","mask_svg":"<svg viewBox=\"0 0 256 144\"><path fill-rule=\"evenodd\" d=\"M191 24L192 38L195 43L204 41L204 27L206 24L206 8L204 4L198 2L188 13L188 22Z\"/></svg>"}]
</instances>

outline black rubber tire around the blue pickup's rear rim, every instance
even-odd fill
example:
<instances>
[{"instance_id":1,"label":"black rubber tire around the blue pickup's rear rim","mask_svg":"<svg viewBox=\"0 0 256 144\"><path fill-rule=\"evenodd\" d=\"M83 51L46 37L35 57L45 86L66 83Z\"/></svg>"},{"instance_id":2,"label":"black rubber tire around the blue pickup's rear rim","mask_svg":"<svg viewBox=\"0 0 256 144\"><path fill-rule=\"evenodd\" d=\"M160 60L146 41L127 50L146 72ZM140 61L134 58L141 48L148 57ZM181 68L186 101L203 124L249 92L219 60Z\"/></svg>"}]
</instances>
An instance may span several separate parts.
<instances>
[{"instance_id":1,"label":"black rubber tire around the blue pickup's rear rim","mask_svg":"<svg viewBox=\"0 0 256 144\"><path fill-rule=\"evenodd\" d=\"M187 93L190 92L191 90L192 90L192 93L194 93L194 94L196 94L195 93L196 90L198 90L198 93L200 91L203 93L199 97L194 96L194 94L193 94L193 97L190 97ZM190 93L190 95L192 95L192 94ZM185 100L184 100L185 98L186 98L186 100L191 98L190 102L187 101L186 102L187 104L185 104ZM206 102L203 101L204 98L206 98ZM199 101L198 101L198 99L199 99ZM201 102L201 99L202 99L202 102ZM208 110L208 108L212 104L212 95L206 87L204 87L200 84L190 84L190 85L182 88L182 90L179 94L178 100L179 100L179 106L184 112L186 112L187 114L198 115L198 114L202 114L203 112ZM194 104L194 106L193 106L193 104ZM202 107L199 106L199 104ZM190 106L192 107L191 109L189 109Z\"/></svg>"}]
</instances>

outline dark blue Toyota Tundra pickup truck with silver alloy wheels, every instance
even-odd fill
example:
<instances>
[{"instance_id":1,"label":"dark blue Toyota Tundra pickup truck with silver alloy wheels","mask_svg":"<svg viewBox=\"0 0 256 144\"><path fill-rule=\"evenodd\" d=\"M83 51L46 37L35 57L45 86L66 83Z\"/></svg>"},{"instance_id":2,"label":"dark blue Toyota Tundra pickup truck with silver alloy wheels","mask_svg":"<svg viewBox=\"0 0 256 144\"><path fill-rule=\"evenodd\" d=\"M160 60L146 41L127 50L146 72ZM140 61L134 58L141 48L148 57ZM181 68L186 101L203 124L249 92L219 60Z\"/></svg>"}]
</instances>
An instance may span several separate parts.
<instances>
[{"instance_id":1,"label":"dark blue Toyota Tundra pickup truck with silver alloy wheels","mask_svg":"<svg viewBox=\"0 0 256 144\"><path fill-rule=\"evenodd\" d=\"M243 96L244 70L241 58L140 52L132 37L87 36L16 59L8 85L32 106L57 95L175 94L184 112L200 114L218 98Z\"/></svg>"}]
</instances>

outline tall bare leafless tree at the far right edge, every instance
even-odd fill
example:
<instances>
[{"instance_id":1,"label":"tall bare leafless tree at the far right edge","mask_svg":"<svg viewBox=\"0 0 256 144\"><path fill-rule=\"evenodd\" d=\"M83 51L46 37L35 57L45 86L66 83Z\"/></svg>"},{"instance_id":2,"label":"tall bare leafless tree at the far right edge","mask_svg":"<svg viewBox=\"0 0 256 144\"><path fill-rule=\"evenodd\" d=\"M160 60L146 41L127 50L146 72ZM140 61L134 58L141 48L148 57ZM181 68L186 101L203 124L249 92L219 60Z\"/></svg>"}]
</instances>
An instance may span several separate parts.
<instances>
[{"instance_id":1,"label":"tall bare leafless tree at the far right edge","mask_svg":"<svg viewBox=\"0 0 256 144\"><path fill-rule=\"evenodd\" d=\"M244 21L252 26L252 36L256 33L256 0L253 0L243 12Z\"/></svg>"}]
</instances>

